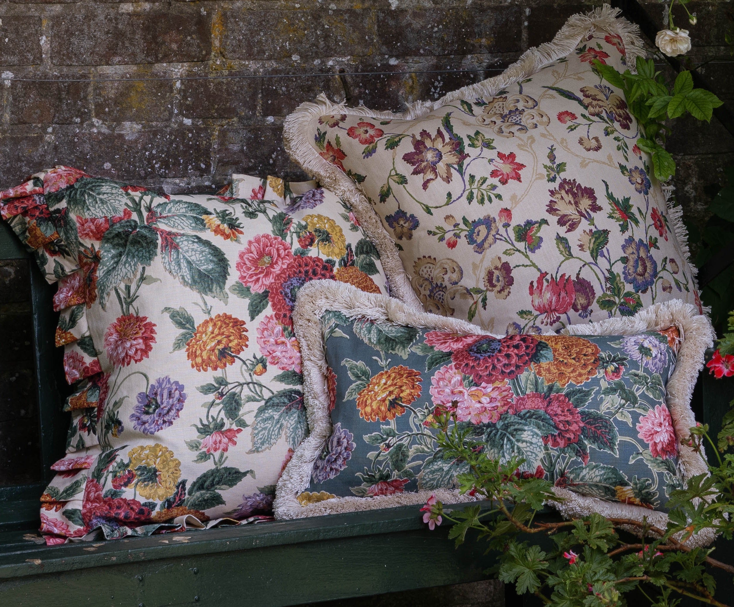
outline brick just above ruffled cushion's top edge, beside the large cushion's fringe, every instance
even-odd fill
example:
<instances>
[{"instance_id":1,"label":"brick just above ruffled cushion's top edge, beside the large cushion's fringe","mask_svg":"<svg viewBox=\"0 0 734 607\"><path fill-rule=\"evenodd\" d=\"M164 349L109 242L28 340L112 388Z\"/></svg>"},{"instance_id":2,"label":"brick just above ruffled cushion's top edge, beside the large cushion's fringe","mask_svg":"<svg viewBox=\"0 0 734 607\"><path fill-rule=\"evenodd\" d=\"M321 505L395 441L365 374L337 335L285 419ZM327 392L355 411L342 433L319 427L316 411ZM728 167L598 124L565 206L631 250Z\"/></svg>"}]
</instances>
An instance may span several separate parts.
<instances>
[{"instance_id":1,"label":"brick just above ruffled cushion's top edge, beside the large cushion's fringe","mask_svg":"<svg viewBox=\"0 0 734 607\"><path fill-rule=\"evenodd\" d=\"M282 132L280 125L220 129L216 148L217 175L247 173L306 179L283 148Z\"/></svg>"}]
</instances>

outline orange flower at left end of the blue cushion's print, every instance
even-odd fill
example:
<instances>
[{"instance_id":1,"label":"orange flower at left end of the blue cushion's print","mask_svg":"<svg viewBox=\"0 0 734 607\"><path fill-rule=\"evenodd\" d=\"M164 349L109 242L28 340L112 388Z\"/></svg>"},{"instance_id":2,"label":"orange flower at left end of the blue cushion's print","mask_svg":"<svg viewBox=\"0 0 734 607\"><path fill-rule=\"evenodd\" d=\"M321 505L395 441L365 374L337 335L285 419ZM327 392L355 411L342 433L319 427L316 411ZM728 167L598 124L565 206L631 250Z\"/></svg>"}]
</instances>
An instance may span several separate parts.
<instances>
[{"instance_id":1,"label":"orange flower at left end of the blue cushion's print","mask_svg":"<svg viewBox=\"0 0 734 607\"><path fill-rule=\"evenodd\" d=\"M357 409L368 422L386 422L404 414L403 405L410 405L420 395L420 371L399 365L371 378L357 395Z\"/></svg>"}]
</instances>

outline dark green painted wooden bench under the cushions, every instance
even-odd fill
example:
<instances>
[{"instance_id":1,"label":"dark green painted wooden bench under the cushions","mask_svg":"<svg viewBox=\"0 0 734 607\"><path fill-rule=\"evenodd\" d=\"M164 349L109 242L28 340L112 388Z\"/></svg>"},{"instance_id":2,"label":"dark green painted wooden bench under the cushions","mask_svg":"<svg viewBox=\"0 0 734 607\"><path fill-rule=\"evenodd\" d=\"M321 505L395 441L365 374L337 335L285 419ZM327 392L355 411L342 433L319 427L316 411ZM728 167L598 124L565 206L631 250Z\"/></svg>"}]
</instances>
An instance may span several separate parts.
<instances>
[{"instance_id":1,"label":"dark green painted wooden bench under the cushions","mask_svg":"<svg viewBox=\"0 0 734 607\"><path fill-rule=\"evenodd\" d=\"M286 606L487 577L494 558L484 554L482 543L454 549L446 525L429 531L416 506L47 547L37 534L38 500L51 464L64 452L69 421L61 406L68 387L54 347L54 287L0 222L0 270L2 264L24 268L28 276L30 310L21 312L30 335L23 348L32 356L35 378L28 401L37 404L37 445L28 449L36 453L40 445L41 456L31 458L24 482L3 482L0 474L0 605ZM0 314L12 322L18 311L3 312L1 295ZM12 367L16 356L3 347L0 361ZM714 431L734 396L726 393L731 383L703 378L698 390L698 417ZM3 402L29 406L0 394L0 408ZM0 461L0 471L4 465L9 464ZM557 514L548 511L545 517ZM734 560L734 551L724 545L718 556ZM508 605L529 604L512 589L507 596Z\"/></svg>"}]
</instances>

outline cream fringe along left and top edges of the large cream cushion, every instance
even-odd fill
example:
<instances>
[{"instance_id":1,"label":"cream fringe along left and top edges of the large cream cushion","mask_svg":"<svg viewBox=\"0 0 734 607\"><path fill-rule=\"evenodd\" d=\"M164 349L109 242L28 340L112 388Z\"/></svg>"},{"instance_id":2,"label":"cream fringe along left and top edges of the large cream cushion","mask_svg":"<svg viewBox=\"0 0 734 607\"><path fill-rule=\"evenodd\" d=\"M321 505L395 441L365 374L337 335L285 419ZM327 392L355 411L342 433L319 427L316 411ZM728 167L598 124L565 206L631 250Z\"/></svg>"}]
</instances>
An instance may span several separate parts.
<instances>
[{"instance_id":1,"label":"cream fringe along left and top edges of the large cream cushion","mask_svg":"<svg viewBox=\"0 0 734 607\"><path fill-rule=\"evenodd\" d=\"M316 101L301 104L291 115L288 115L283 124L283 142L288 154L306 173L316 176L324 187L332 190L352 206L357 219L379 251L382 267L385 268L393 295L410 306L422 309L420 301L410 286L410 276L404 270L395 243L382 226L382 221L377 217L362 187L355 184L344 171L321 158L319 152L314 148L313 129L311 129L313 121L320 116L330 114L368 116L382 120L412 120L457 99L494 96L498 90L531 76L548 63L566 57L593 29L603 29L605 32L619 35L624 43L628 62L633 69L636 57L644 55L639 27L619 17L619 13L619 9L612 9L605 4L586 14L573 15L551 42L528 49L517 62L510 65L499 76L494 76L476 85L462 87L437 101L418 101L409 104L405 112L377 112L364 106L347 107L346 102L333 104L324 93L321 93Z\"/></svg>"}]
</instances>

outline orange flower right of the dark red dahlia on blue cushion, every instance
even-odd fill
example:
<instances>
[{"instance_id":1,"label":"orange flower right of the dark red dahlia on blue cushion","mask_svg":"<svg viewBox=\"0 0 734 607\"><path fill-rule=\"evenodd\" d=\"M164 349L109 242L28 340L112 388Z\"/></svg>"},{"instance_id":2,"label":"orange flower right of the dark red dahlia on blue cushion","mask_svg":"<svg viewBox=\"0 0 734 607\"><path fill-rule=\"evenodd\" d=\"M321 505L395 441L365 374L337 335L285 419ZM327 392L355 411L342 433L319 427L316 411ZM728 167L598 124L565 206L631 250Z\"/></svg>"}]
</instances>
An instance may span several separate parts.
<instances>
[{"instance_id":1,"label":"orange flower right of the dark red dahlia on blue cushion","mask_svg":"<svg viewBox=\"0 0 734 607\"><path fill-rule=\"evenodd\" d=\"M565 387L570 382L580 386L596 375L600 350L595 343L570 335L544 335L539 339L553 351L552 361L533 364L533 370L545 383L555 381Z\"/></svg>"}]
</instances>

